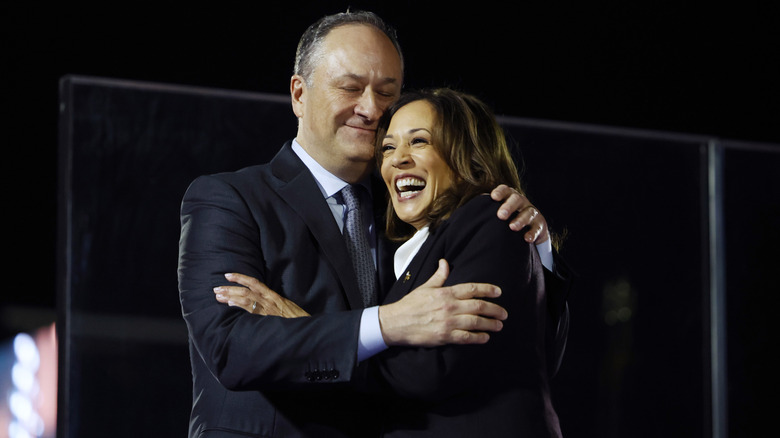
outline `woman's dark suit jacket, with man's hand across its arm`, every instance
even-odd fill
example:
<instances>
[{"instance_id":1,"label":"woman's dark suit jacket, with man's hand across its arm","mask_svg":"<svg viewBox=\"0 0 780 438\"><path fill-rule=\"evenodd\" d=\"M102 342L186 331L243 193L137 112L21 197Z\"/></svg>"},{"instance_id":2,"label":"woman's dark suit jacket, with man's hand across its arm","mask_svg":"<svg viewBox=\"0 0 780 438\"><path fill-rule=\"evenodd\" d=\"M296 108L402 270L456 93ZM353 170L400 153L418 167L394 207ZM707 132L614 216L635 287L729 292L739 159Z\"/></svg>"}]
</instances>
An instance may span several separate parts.
<instances>
[{"instance_id":1,"label":"woman's dark suit jacket, with man's hand across its arm","mask_svg":"<svg viewBox=\"0 0 780 438\"><path fill-rule=\"evenodd\" d=\"M446 284L492 283L509 318L484 345L393 348L373 360L390 392L387 437L550 437L558 417L546 365L547 302L539 256L522 233L496 218L498 203L477 196L428 237L385 303L424 283L437 261Z\"/></svg>"}]
</instances>

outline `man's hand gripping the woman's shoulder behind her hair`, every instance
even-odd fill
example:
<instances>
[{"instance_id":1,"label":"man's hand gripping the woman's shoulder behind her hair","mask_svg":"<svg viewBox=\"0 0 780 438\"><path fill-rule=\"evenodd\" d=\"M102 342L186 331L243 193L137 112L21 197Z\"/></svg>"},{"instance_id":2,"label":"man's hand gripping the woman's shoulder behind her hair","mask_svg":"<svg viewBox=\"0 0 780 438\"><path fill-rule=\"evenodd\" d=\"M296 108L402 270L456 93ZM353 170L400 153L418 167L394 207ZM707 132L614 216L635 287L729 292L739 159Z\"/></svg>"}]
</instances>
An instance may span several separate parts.
<instances>
[{"instance_id":1,"label":"man's hand gripping the woman's shoulder behind her hair","mask_svg":"<svg viewBox=\"0 0 780 438\"><path fill-rule=\"evenodd\" d=\"M530 226L524 236L526 242L538 245L550 238L544 216L531 204L528 198L517 190L501 184L490 192L490 197L494 201L504 201L498 209L499 219L507 220L513 212L518 212L517 216L509 223L510 229L520 231L526 226Z\"/></svg>"}]
</instances>

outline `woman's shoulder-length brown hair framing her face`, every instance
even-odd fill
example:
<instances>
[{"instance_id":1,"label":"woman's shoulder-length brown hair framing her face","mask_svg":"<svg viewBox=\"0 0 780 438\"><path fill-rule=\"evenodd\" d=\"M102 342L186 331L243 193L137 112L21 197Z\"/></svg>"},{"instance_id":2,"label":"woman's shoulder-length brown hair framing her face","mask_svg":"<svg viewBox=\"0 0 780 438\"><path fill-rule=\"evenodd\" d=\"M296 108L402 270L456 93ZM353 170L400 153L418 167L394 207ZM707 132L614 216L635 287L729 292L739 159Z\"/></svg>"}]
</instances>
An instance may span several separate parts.
<instances>
[{"instance_id":1,"label":"woman's shoulder-length brown hair framing her face","mask_svg":"<svg viewBox=\"0 0 780 438\"><path fill-rule=\"evenodd\" d=\"M434 200L427 215L434 229L456 208L473 197L506 184L522 193L517 167L504 131L493 111L476 97L449 88L412 91L403 94L379 120L376 157L382 164L382 139L393 115L405 105L423 100L436 114L432 143L453 172L452 186ZM406 240L414 228L403 222L388 201L387 236Z\"/></svg>"}]
</instances>

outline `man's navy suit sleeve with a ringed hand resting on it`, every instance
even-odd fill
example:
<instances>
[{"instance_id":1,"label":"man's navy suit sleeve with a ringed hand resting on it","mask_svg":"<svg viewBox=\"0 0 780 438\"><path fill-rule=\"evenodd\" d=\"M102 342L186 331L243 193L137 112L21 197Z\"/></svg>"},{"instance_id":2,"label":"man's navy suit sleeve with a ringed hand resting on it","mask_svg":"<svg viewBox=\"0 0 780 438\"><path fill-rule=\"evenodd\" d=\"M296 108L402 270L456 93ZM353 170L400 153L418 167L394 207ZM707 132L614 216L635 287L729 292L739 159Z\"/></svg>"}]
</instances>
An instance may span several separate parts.
<instances>
[{"instance_id":1,"label":"man's navy suit sleeve with a ringed hand resting on it","mask_svg":"<svg viewBox=\"0 0 780 438\"><path fill-rule=\"evenodd\" d=\"M214 177L193 182L182 202L178 277L194 348L231 390L349 381L356 366L359 311L286 319L253 315L215 300L213 288L229 284L227 272L266 282L259 236L257 222L233 186Z\"/></svg>"}]
</instances>

